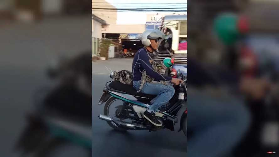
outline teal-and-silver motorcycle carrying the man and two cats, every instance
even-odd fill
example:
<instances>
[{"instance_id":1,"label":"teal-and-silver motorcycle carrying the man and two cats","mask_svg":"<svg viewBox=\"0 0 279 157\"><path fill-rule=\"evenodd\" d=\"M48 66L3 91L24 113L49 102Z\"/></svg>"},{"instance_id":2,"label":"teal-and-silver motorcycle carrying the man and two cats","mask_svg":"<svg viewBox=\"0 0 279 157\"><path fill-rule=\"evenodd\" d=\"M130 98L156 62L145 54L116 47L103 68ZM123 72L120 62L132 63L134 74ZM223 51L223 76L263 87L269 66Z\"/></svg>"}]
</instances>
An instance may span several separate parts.
<instances>
[{"instance_id":1,"label":"teal-and-silver motorcycle carrying the man and two cats","mask_svg":"<svg viewBox=\"0 0 279 157\"><path fill-rule=\"evenodd\" d=\"M113 73L110 78L113 78ZM105 103L104 114L100 114L99 119L106 121L110 127L118 131L149 130L149 132L164 128L174 131L174 124L180 120L178 132L183 130L187 136L187 78L180 70L177 77L183 82L179 85L172 84L175 89L174 96L169 104L160 107L155 113L163 124L161 127L154 126L143 117L148 103L157 95L137 93L132 85L122 84L119 81L109 81L105 84L104 93L98 103L99 105Z\"/></svg>"}]
</instances>

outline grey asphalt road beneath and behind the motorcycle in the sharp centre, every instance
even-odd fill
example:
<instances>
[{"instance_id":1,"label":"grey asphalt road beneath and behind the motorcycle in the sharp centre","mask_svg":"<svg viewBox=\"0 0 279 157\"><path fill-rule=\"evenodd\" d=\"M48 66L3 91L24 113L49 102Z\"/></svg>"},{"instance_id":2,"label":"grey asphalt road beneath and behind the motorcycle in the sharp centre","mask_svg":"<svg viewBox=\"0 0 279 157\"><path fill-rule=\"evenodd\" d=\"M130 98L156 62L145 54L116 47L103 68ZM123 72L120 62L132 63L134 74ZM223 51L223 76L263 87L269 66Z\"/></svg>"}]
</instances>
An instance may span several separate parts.
<instances>
[{"instance_id":1,"label":"grey asphalt road beneath and behind the motorcycle in the sharp centre","mask_svg":"<svg viewBox=\"0 0 279 157\"><path fill-rule=\"evenodd\" d=\"M113 130L105 121L99 120L104 104L98 105L110 71L131 71L132 58L110 59L92 62L92 156L95 157L186 157L186 138L183 132L168 129L157 132ZM175 126L177 127L178 124Z\"/></svg>"}]
</instances>

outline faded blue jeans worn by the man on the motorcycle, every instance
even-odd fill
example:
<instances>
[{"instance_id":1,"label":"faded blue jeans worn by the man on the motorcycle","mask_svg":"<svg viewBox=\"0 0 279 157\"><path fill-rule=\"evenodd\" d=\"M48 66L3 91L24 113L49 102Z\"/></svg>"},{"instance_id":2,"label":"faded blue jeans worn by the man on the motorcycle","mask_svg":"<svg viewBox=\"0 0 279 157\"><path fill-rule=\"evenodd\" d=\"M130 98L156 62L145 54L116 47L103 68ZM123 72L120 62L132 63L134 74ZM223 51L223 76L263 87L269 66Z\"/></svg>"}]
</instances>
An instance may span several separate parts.
<instances>
[{"instance_id":1,"label":"faded blue jeans worn by the man on the motorcycle","mask_svg":"<svg viewBox=\"0 0 279 157\"><path fill-rule=\"evenodd\" d=\"M139 89L140 84L141 80L133 82L133 86L136 90ZM155 112L158 108L166 105L169 102L169 100L173 97L175 90L172 86L169 85L146 82L140 92L144 94L157 95L151 101L152 105L149 106L147 110L148 112Z\"/></svg>"}]
</instances>

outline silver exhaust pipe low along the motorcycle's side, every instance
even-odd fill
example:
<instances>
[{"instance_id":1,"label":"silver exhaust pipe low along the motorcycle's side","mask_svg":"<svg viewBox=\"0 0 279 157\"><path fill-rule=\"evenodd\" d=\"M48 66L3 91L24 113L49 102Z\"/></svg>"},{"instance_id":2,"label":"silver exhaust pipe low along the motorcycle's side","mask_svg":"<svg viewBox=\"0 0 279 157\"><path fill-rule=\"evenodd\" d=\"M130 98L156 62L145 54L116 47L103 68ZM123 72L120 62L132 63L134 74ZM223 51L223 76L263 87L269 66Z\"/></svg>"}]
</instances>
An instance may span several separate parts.
<instances>
[{"instance_id":1,"label":"silver exhaust pipe low along the motorcycle's side","mask_svg":"<svg viewBox=\"0 0 279 157\"><path fill-rule=\"evenodd\" d=\"M131 130L149 130L149 127L146 127L144 125L140 125L140 124L135 124L135 123L128 123L128 122L124 122L124 121L118 121L118 120L113 120L112 117L110 116L105 116L105 115L100 115L99 119L107 121L107 122L113 122L113 124L117 125L117 127L122 127L122 128L127 128L127 129L131 129Z\"/></svg>"}]
</instances>

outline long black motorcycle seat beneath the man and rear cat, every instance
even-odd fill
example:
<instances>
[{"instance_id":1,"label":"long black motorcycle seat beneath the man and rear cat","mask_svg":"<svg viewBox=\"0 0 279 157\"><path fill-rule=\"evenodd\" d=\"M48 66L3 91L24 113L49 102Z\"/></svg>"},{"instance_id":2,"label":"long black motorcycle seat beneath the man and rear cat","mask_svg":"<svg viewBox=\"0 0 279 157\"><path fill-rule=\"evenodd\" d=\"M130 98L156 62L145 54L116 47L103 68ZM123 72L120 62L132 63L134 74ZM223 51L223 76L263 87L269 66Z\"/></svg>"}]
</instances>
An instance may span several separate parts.
<instances>
[{"instance_id":1,"label":"long black motorcycle seat beneath the man and rear cat","mask_svg":"<svg viewBox=\"0 0 279 157\"><path fill-rule=\"evenodd\" d=\"M141 92L137 93L137 90L133 87L133 85L123 84L120 81L112 81L109 84L109 87L115 90L126 92L126 94L133 95L138 100L151 100L157 96L157 95L144 94Z\"/></svg>"}]
</instances>

